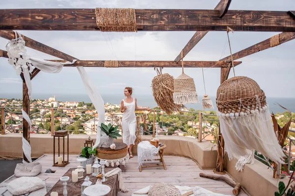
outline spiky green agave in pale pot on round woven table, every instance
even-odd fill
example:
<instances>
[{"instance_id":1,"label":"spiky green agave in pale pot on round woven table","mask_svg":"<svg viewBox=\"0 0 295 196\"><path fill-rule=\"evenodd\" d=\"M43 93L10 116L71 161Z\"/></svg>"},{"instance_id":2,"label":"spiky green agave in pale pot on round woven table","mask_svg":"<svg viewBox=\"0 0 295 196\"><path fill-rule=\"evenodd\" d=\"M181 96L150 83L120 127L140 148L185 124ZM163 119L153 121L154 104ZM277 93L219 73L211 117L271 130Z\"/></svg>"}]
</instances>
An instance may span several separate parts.
<instances>
[{"instance_id":1,"label":"spiky green agave in pale pot on round woven table","mask_svg":"<svg viewBox=\"0 0 295 196\"><path fill-rule=\"evenodd\" d=\"M118 130L119 125L114 127L114 124L109 123L108 125L105 125L104 123L101 123L101 130L106 134L106 139L102 142L101 147L110 147L114 143L114 139L117 139L117 137L121 137Z\"/></svg>"}]
</instances>

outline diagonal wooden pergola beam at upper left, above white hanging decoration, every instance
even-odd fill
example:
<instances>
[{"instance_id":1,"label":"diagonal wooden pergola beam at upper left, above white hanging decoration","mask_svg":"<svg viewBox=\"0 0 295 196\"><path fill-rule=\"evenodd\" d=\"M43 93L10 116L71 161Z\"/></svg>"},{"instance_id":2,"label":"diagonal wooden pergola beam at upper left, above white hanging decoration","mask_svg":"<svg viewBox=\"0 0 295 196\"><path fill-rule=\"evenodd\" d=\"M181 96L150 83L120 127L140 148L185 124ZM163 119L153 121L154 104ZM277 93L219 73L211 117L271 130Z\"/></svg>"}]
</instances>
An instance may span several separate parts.
<instances>
[{"instance_id":1,"label":"diagonal wooden pergola beam at upper left, above white hanging decoration","mask_svg":"<svg viewBox=\"0 0 295 196\"><path fill-rule=\"evenodd\" d=\"M1 14L0 14L0 18L1 18ZM21 36L23 37L23 39L26 42L26 47L29 47L31 49L36 49L36 50L44 52L46 54L58 57L63 60L71 61L71 62L75 59L74 57L72 57L66 53L63 53L57 49L51 48L45 44L42 44L42 43L37 42L33 39L30 39L29 37L26 37L24 35L21 35ZM0 37L8 39L8 40L15 39L14 32L7 31L7 30L0 30Z\"/></svg>"}]
</instances>

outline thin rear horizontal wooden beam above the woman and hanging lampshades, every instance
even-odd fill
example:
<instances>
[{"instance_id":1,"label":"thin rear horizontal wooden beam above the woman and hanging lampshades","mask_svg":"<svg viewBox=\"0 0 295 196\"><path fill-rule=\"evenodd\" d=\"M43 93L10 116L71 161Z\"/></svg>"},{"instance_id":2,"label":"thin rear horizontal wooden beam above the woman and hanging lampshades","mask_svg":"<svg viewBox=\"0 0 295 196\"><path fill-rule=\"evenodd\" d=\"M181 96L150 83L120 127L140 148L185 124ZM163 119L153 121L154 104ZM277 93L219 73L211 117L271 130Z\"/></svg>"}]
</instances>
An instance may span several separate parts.
<instances>
[{"instance_id":1,"label":"thin rear horizontal wooden beam above the woman and hanging lampshades","mask_svg":"<svg viewBox=\"0 0 295 196\"><path fill-rule=\"evenodd\" d=\"M64 62L61 60L50 60L54 62ZM241 61L235 61L235 66L241 64ZM73 65L64 65L64 67L104 67L104 61L89 61L79 60ZM183 61L183 67L204 67L204 68L221 68L227 67L228 63L220 61ZM170 67L170 68L181 68L181 64L175 63L175 61L118 61L118 67L120 68L132 68L132 67Z\"/></svg>"}]
</instances>

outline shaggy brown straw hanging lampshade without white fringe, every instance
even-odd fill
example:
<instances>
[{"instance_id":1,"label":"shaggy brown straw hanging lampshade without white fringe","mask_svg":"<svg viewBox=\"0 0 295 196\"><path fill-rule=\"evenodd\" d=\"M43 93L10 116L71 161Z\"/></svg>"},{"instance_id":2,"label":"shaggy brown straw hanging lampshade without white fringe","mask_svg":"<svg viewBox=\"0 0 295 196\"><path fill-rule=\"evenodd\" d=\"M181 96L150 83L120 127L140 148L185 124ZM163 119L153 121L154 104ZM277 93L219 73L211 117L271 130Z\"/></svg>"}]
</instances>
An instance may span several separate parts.
<instances>
[{"instance_id":1,"label":"shaggy brown straw hanging lampshade without white fringe","mask_svg":"<svg viewBox=\"0 0 295 196\"><path fill-rule=\"evenodd\" d=\"M158 106L168 115L173 112L181 112L181 109L184 108L184 105L173 101L173 81L173 76L160 72L151 81L152 95Z\"/></svg>"}]
</instances>

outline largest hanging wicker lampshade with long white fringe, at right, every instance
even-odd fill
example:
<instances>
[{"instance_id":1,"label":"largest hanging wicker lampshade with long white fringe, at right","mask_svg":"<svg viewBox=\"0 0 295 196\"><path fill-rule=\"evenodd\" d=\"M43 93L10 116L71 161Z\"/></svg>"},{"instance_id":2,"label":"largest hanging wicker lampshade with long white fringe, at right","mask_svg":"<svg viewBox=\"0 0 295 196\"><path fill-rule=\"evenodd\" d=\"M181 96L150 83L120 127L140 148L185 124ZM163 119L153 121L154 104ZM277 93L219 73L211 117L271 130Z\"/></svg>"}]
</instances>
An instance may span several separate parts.
<instances>
[{"instance_id":1,"label":"largest hanging wicker lampshade with long white fringe, at right","mask_svg":"<svg viewBox=\"0 0 295 196\"><path fill-rule=\"evenodd\" d=\"M224 81L217 90L216 105L230 159L248 155L249 149L282 162L284 153L272 127L265 93L253 79L237 76Z\"/></svg>"}]
</instances>

